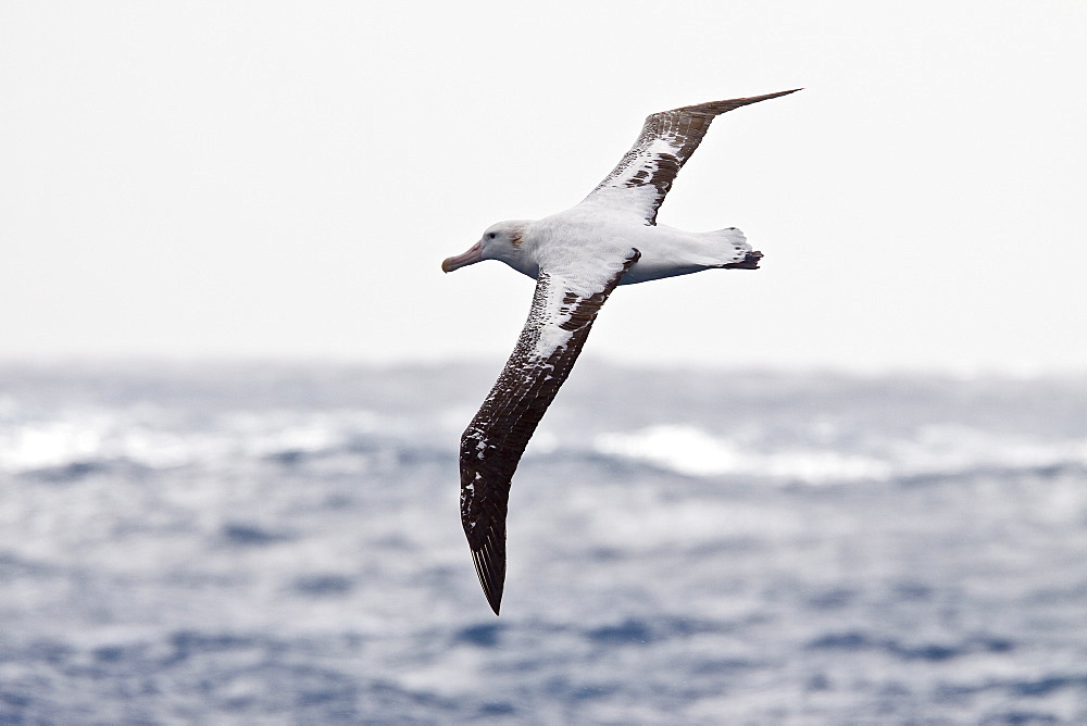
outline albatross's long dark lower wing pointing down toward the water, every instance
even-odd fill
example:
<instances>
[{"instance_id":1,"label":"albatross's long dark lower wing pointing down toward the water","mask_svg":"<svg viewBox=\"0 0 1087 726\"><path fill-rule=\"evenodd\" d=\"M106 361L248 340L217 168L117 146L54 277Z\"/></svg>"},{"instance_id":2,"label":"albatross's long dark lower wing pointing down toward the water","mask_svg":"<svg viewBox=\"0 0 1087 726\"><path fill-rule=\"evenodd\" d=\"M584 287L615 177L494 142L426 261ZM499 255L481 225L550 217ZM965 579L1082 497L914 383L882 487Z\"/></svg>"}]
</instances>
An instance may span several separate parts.
<instances>
[{"instance_id":1,"label":"albatross's long dark lower wing pointing down toward the water","mask_svg":"<svg viewBox=\"0 0 1087 726\"><path fill-rule=\"evenodd\" d=\"M632 250L589 293L541 270L528 321L487 400L461 437L461 523L479 584L495 614L505 583L510 479L537 424L574 366L589 328L620 278L641 256Z\"/></svg>"}]
</instances>

